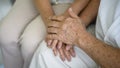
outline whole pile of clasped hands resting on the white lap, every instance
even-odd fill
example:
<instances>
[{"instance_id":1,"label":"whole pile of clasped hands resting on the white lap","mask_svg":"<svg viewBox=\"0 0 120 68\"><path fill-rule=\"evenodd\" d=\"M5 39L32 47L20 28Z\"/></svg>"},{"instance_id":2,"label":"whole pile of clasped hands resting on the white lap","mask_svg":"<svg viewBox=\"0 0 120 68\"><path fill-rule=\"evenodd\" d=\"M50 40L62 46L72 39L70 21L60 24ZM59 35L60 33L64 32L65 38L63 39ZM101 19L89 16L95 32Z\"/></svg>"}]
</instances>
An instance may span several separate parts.
<instances>
[{"instance_id":1,"label":"whole pile of clasped hands resting on the white lap","mask_svg":"<svg viewBox=\"0 0 120 68\"><path fill-rule=\"evenodd\" d=\"M73 45L77 45L79 33L85 30L79 17L69 8L70 17L52 16L48 23L46 42L48 47L53 49L55 55L60 55L60 58L65 61L75 57Z\"/></svg>"}]
</instances>

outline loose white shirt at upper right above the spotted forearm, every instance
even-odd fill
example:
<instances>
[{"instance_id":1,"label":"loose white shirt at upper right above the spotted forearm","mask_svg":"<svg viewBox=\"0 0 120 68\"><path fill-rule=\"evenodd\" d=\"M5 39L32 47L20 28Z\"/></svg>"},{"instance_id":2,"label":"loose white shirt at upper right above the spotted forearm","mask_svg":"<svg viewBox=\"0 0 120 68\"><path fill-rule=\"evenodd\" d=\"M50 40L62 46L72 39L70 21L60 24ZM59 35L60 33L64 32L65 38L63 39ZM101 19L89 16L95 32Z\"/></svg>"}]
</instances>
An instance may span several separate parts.
<instances>
[{"instance_id":1,"label":"loose white shirt at upper right above the spotted forearm","mask_svg":"<svg viewBox=\"0 0 120 68\"><path fill-rule=\"evenodd\" d=\"M96 36L109 45L120 47L120 0L101 0Z\"/></svg>"}]
</instances>

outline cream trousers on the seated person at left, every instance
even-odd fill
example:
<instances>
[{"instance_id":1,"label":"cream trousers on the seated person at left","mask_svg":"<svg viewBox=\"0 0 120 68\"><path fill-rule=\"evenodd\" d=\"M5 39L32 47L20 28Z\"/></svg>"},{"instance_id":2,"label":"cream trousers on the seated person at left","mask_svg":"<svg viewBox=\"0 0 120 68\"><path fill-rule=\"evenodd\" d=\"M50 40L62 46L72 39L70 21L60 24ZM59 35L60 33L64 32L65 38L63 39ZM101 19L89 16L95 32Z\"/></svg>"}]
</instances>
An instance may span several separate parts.
<instances>
[{"instance_id":1,"label":"cream trousers on the seated person at left","mask_svg":"<svg viewBox=\"0 0 120 68\"><path fill-rule=\"evenodd\" d=\"M45 27L35 20L37 16L32 0L16 0L0 22L0 45L5 68L28 68L33 52L45 35Z\"/></svg>"}]
</instances>

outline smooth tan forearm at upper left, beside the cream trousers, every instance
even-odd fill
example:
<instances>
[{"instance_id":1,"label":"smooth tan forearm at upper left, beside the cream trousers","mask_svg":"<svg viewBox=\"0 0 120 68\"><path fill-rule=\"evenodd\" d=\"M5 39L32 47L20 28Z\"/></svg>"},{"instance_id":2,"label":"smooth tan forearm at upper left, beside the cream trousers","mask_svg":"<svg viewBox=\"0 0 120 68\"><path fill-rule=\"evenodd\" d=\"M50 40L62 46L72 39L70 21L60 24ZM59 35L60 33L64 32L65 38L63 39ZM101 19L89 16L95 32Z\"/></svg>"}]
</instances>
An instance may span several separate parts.
<instances>
[{"instance_id":1,"label":"smooth tan forearm at upper left, beside the cream trousers","mask_svg":"<svg viewBox=\"0 0 120 68\"><path fill-rule=\"evenodd\" d=\"M34 0L34 2L43 21L47 24L49 22L48 18L54 15L50 0Z\"/></svg>"}]
</instances>

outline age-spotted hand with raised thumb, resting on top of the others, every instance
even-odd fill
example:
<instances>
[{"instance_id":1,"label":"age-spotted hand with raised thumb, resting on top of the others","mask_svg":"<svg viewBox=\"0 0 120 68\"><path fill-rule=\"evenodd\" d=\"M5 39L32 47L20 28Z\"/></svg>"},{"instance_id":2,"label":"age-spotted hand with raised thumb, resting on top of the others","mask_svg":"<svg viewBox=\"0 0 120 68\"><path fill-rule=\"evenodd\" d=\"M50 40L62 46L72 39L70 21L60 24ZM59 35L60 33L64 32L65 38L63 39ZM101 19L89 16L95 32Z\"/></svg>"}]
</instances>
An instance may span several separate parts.
<instances>
[{"instance_id":1,"label":"age-spotted hand with raised thumb, resting on top of the others","mask_svg":"<svg viewBox=\"0 0 120 68\"><path fill-rule=\"evenodd\" d=\"M71 17L62 22L48 24L47 39L57 39L69 45L77 43L79 36L82 36L80 34L84 34L86 28L71 8L68 12Z\"/></svg>"}]
</instances>

